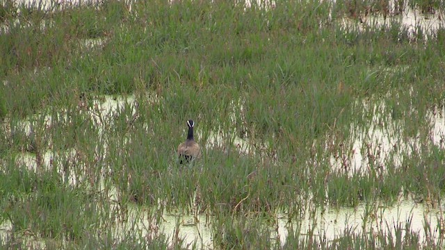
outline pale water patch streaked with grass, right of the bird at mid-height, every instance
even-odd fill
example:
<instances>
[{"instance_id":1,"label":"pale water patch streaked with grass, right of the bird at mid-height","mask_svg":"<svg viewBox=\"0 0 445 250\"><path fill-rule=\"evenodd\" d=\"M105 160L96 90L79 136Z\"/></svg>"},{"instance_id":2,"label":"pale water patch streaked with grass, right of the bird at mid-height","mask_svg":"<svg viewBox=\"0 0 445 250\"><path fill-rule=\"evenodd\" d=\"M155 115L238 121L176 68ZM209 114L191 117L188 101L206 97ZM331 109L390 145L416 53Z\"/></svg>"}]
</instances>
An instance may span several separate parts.
<instances>
[{"instance_id":1,"label":"pale water patch streaked with grass, right of the bird at mid-height","mask_svg":"<svg viewBox=\"0 0 445 250\"><path fill-rule=\"evenodd\" d=\"M385 101L363 101L364 113L372 114L369 124L350 124L346 141L329 137L325 144L332 169L353 172L370 172L371 168L385 172L388 165L401 167L406 157L421 147L444 147L445 110L428 110L422 129L428 128L429 140L421 141L420 132L406 136L403 119L394 120L387 114ZM419 128L420 129L420 128ZM340 145L340 146L339 146Z\"/></svg>"}]
</instances>

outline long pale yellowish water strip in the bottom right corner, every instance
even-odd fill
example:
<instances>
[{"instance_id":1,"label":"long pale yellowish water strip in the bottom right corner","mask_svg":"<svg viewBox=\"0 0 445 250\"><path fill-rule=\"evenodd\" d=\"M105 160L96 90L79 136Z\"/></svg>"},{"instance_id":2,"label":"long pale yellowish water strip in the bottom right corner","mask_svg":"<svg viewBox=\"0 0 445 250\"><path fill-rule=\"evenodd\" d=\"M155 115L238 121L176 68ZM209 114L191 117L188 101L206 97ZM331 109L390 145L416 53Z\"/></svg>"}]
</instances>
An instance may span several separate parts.
<instances>
[{"instance_id":1,"label":"long pale yellowish water strip in the bottom right corner","mask_svg":"<svg viewBox=\"0 0 445 250\"><path fill-rule=\"evenodd\" d=\"M410 233L418 235L419 242L425 243L443 240L439 231L442 219L441 209L430 209L411 199L402 199L393 206L379 205L378 201L371 205L362 203L355 208L327 206L324 210L317 208L315 213L307 213L301 222L289 224L283 215L277 223L282 244L286 242L290 226L299 229L302 238L310 233L330 242L341 239L345 233L391 238L399 233L404 238Z\"/></svg>"}]
</instances>

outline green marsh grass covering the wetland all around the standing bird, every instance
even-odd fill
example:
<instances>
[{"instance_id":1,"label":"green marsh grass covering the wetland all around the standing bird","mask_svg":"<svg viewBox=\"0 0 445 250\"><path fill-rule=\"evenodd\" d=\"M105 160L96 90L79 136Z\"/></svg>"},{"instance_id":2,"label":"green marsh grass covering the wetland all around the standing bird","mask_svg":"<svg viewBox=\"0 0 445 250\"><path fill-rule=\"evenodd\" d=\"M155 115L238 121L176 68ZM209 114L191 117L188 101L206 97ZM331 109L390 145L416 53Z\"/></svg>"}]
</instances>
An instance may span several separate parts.
<instances>
[{"instance_id":1,"label":"green marsh grass covering the wetland all around the standing bird","mask_svg":"<svg viewBox=\"0 0 445 250\"><path fill-rule=\"evenodd\" d=\"M439 1L408 5L444 10ZM167 246L161 234L116 238L110 228L122 222L114 218L133 202L215 215L213 246L221 249L280 248L246 215L286 210L299 219L308 203L355 207L401 194L440 204L444 151L423 124L443 107L443 25L427 39L398 22L363 29L338 22L385 14L385 1L49 6L0 8L0 221L13 235L3 246L21 244L17 235L55 248ZM90 40L99 42L88 47ZM133 99L104 112L97 102L104 94ZM368 153L359 171L348 157L333 169L332 156L353 154L351 127L371 127L375 114L364 103L385 103L379 126L403 124L400 143L419 143L400 166L394 156L381 166ZM203 157L180 166L175 150L190 118ZM204 147L211 133L223 143ZM237 150L234 135L248 152ZM35 167L19 165L24 153ZM118 206L108 201L114 188ZM376 234L347 231L327 243L296 230L283 247L421 244L415 233L403 242Z\"/></svg>"}]
</instances>

